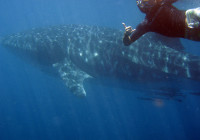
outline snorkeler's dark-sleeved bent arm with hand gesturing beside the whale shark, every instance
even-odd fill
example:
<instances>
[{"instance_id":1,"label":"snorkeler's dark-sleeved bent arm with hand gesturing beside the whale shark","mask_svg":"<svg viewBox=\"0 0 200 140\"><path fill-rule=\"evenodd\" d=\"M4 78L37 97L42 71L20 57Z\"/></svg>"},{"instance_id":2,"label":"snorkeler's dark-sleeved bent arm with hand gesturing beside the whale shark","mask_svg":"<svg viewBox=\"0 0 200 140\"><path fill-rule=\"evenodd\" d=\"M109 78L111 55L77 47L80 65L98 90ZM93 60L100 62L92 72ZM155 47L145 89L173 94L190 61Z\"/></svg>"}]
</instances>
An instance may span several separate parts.
<instances>
[{"instance_id":1,"label":"snorkeler's dark-sleeved bent arm with hand gesturing beside the whale shark","mask_svg":"<svg viewBox=\"0 0 200 140\"><path fill-rule=\"evenodd\" d=\"M126 28L125 28L126 29ZM147 32L147 25L146 22L140 23L136 29L128 32L127 30L124 33L123 43L125 46L129 46L131 43L135 42L137 39L139 39L142 35L144 35Z\"/></svg>"}]
</instances>

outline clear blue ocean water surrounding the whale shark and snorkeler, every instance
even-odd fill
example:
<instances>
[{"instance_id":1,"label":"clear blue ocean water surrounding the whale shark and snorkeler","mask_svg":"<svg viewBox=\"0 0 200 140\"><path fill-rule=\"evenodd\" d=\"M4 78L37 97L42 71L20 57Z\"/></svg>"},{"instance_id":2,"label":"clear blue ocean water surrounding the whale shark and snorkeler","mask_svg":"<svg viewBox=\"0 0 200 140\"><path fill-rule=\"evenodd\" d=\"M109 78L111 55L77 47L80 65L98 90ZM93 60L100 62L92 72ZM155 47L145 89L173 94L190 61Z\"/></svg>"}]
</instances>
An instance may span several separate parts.
<instances>
[{"instance_id":1,"label":"clear blue ocean water surrounding the whale shark and snorkeler","mask_svg":"<svg viewBox=\"0 0 200 140\"><path fill-rule=\"evenodd\" d=\"M200 4L181 2L180 8ZM1 0L0 36L71 23L123 30L122 22L135 27L143 18L134 0ZM199 42L181 41L200 55ZM200 86L184 84L191 91ZM186 92L182 102L154 102L118 85L88 81L87 97L80 99L59 78L0 47L0 140L200 139L200 96Z\"/></svg>"}]
</instances>

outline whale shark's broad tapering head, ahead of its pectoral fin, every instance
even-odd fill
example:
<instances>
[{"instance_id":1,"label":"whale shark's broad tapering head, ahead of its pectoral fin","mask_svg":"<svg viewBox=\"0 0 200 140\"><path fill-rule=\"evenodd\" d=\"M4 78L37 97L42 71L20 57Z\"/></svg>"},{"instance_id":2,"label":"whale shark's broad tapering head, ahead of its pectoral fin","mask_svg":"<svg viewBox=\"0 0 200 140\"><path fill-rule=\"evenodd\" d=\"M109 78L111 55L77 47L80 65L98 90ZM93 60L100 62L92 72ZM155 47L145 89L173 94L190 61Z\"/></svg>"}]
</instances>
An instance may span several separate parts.
<instances>
[{"instance_id":1,"label":"whale shark's broad tapering head, ahead of its pectoral fin","mask_svg":"<svg viewBox=\"0 0 200 140\"><path fill-rule=\"evenodd\" d=\"M66 56L65 41L57 40L56 35L33 29L1 38L0 44L21 57L32 59L42 64L62 61Z\"/></svg>"}]
</instances>

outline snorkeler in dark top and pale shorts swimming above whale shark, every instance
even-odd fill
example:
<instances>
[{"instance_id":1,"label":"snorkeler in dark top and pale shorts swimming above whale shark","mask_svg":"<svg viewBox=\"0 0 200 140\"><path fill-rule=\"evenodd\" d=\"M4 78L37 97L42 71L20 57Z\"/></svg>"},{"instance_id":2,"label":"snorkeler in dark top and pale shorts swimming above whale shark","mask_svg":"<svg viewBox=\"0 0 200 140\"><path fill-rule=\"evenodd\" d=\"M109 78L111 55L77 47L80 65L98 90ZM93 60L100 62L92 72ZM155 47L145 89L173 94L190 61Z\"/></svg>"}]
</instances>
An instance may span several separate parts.
<instances>
[{"instance_id":1,"label":"snorkeler in dark top and pale shorts swimming above whale shark","mask_svg":"<svg viewBox=\"0 0 200 140\"><path fill-rule=\"evenodd\" d=\"M179 10L172 5L176 1L137 0L137 6L146 17L136 29L122 23L125 28L124 45L130 45L147 32L200 41L200 7Z\"/></svg>"}]
</instances>

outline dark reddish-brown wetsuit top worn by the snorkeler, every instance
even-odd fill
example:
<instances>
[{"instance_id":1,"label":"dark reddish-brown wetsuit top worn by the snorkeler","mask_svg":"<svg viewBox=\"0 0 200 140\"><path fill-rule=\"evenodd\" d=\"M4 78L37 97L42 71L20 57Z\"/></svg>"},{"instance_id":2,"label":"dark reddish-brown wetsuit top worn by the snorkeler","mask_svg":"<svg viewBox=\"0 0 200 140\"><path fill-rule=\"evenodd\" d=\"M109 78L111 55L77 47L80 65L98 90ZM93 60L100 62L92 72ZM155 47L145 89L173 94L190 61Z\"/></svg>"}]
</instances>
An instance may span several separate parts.
<instances>
[{"instance_id":1,"label":"dark reddish-brown wetsuit top worn by the snorkeler","mask_svg":"<svg viewBox=\"0 0 200 140\"><path fill-rule=\"evenodd\" d=\"M176 0L155 5L142 23L132 33L130 38L124 36L124 45L128 46L147 32L156 32L168 37L184 37L186 15L184 10L178 10L172 5Z\"/></svg>"}]
</instances>

